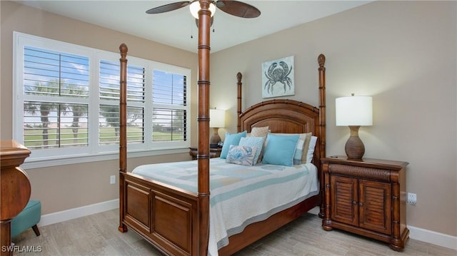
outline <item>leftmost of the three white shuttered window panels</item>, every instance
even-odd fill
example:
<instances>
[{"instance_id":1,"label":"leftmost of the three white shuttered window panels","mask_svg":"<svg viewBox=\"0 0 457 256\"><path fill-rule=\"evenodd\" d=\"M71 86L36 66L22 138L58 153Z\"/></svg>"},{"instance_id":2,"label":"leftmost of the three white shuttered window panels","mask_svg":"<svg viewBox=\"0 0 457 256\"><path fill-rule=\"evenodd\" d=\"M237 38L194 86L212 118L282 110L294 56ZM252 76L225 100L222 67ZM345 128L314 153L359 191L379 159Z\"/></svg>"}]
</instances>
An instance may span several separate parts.
<instances>
[{"instance_id":1,"label":"leftmost of the three white shuttered window panels","mask_svg":"<svg viewBox=\"0 0 457 256\"><path fill-rule=\"evenodd\" d=\"M24 145L88 145L89 58L24 47Z\"/></svg>"}]
</instances>

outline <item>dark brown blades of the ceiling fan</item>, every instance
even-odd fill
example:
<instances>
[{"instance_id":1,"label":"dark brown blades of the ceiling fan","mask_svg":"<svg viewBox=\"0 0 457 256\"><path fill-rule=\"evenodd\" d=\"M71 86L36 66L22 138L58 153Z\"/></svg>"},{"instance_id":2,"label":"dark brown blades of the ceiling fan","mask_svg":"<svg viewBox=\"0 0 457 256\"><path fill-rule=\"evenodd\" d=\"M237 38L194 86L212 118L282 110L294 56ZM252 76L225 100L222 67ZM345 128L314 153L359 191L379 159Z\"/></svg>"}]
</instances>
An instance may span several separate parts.
<instances>
[{"instance_id":1,"label":"dark brown blades of the ceiling fan","mask_svg":"<svg viewBox=\"0 0 457 256\"><path fill-rule=\"evenodd\" d=\"M189 6L194 2L197 2L198 4L199 1L179 1L172 4L165 4L163 6L158 6L154 7L153 9L149 9L148 11L146 11L146 14L161 14L167 11L174 11L184 6ZM227 14L231 14L233 16L241 18L256 18L260 16L260 11L256 7L251 6L250 4L243 3L241 1L216 0L211 1L211 4L214 4L214 6L219 8L221 11L226 12Z\"/></svg>"}]
</instances>

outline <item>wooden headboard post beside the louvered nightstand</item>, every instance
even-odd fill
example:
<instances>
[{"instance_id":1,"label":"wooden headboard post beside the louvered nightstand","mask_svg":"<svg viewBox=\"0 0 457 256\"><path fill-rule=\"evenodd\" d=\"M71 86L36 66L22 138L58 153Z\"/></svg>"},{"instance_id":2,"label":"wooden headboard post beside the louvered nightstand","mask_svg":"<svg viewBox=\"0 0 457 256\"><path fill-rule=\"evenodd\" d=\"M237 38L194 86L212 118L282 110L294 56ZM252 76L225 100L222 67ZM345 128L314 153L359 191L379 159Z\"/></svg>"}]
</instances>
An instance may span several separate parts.
<instances>
[{"instance_id":1,"label":"wooden headboard post beside the louvered nightstand","mask_svg":"<svg viewBox=\"0 0 457 256\"><path fill-rule=\"evenodd\" d=\"M324 56L322 53L318 56L317 61L319 63L319 141L321 143L321 146L319 147L321 149L321 152L319 153L320 158L325 158L326 157L326 68L325 68L325 63L326 63L326 56ZM319 165L321 164L321 161L318 161ZM318 168L321 168L321 166L318 166ZM321 203L321 210L319 210L319 217L323 217L323 171L321 170L321 175L319 177L321 180L320 184L320 191L319 193L321 194L322 198L322 203Z\"/></svg>"}]
</instances>

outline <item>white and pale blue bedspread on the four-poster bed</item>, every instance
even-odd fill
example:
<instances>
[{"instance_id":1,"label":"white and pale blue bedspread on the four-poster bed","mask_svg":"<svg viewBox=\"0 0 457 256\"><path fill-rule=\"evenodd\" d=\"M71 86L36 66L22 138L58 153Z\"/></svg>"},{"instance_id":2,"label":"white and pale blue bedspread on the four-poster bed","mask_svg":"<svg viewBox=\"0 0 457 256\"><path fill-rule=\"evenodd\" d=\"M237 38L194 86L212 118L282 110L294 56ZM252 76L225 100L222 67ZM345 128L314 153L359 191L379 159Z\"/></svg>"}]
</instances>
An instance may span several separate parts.
<instances>
[{"instance_id":1,"label":"white and pale blue bedspread on the four-poster bed","mask_svg":"<svg viewBox=\"0 0 457 256\"><path fill-rule=\"evenodd\" d=\"M196 160L141 165L133 173L197 192ZM317 183L317 168L311 163L243 166L211 158L209 255L218 255L229 236L247 225L317 195Z\"/></svg>"}]
</instances>

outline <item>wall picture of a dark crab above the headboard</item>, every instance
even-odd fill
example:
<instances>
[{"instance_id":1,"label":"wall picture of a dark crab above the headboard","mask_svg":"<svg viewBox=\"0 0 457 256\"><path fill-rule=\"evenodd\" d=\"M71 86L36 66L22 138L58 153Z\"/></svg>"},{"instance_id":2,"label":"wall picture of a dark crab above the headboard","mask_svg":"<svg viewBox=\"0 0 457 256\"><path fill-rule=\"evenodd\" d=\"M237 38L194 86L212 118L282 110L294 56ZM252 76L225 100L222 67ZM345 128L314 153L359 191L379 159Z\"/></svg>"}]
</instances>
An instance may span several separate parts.
<instances>
[{"instance_id":1,"label":"wall picture of a dark crab above the headboard","mask_svg":"<svg viewBox=\"0 0 457 256\"><path fill-rule=\"evenodd\" d=\"M295 94L293 56L262 63L262 98Z\"/></svg>"}]
</instances>

